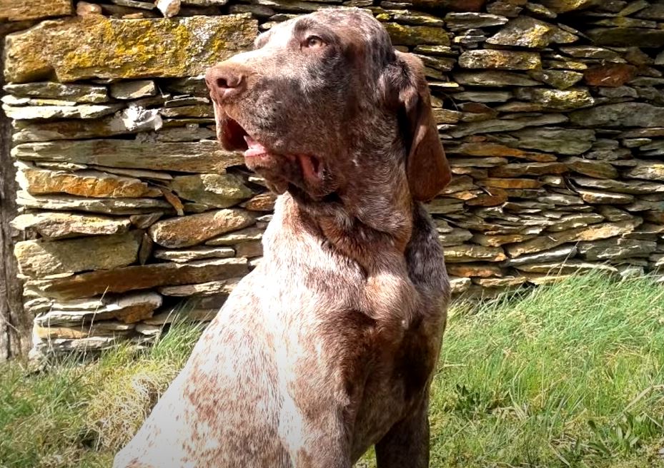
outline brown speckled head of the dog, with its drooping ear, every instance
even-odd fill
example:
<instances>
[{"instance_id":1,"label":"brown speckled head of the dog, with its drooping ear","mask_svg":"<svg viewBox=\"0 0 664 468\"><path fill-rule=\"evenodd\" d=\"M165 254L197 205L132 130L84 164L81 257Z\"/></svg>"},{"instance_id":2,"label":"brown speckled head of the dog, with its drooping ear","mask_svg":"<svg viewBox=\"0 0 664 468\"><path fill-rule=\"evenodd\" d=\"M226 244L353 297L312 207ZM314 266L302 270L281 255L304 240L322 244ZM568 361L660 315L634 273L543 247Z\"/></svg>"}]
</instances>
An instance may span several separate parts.
<instances>
[{"instance_id":1,"label":"brown speckled head of the dog, with its drooping ear","mask_svg":"<svg viewBox=\"0 0 664 468\"><path fill-rule=\"evenodd\" d=\"M421 61L395 51L365 11L277 24L206 81L222 146L244 151L277 193L321 200L390 172L428 200L450 179Z\"/></svg>"}]
</instances>

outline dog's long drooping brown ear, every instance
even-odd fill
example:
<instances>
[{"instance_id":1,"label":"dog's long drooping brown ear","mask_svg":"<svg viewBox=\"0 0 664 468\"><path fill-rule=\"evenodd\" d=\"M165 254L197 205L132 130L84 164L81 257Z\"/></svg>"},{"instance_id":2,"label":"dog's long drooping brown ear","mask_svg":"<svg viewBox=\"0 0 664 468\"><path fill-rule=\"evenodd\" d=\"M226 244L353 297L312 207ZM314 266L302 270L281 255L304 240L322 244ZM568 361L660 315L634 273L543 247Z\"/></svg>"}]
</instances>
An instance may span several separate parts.
<instances>
[{"instance_id":1,"label":"dog's long drooping brown ear","mask_svg":"<svg viewBox=\"0 0 664 468\"><path fill-rule=\"evenodd\" d=\"M407 148L406 174L412 198L427 201L450 182L452 173L431 110L431 95L422 61L395 51L399 105ZM396 79L395 79L396 78ZM395 82L396 81L396 82Z\"/></svg>"}]
</instances>

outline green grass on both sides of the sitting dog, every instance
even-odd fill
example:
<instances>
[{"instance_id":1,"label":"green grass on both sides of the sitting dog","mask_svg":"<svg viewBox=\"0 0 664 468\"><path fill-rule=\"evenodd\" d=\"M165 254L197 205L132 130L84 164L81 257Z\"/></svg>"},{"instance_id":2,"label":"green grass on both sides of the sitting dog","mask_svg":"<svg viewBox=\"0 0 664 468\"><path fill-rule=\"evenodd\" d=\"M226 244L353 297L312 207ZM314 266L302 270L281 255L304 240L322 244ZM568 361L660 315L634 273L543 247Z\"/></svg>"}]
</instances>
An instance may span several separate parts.
<instances>
[{"instance_id":1,"label":"green grass on both sides of the sitting dog","mask_svg":"<svg viewBox=\"0 0 664 468\"><path fill-rule=\"evenodd\" d=\"M108 467L198 334L0 367L0 467ZM664 467L664 288L585 275L455 304L430 420L432 467Z\"/></svg>"}]
</instances>

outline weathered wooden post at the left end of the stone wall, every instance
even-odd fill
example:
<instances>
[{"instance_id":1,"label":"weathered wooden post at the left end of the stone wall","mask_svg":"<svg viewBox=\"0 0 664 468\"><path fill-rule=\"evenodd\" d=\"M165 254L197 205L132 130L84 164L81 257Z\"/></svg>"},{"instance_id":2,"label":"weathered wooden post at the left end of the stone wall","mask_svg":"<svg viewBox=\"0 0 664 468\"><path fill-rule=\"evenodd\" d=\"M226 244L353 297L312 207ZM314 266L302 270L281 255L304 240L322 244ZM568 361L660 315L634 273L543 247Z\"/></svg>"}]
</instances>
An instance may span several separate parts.
<instances>
[{"instance_id":1,"label":"weathered wooden post at the left end of the stone wall","mask_svg":"<svg viewBox=\"0 0 664 468\"><path fill-rule=\"evenodd\" d=\"M19 24L0 25L0 87L4 86L4 36ZM9 225L16 216L16 170L9 155L9 118L0 111L0 361L30 349L32 317L23 307L23 284L17 278L14 243L20 234Z\"/></svg>"}]
</instances>

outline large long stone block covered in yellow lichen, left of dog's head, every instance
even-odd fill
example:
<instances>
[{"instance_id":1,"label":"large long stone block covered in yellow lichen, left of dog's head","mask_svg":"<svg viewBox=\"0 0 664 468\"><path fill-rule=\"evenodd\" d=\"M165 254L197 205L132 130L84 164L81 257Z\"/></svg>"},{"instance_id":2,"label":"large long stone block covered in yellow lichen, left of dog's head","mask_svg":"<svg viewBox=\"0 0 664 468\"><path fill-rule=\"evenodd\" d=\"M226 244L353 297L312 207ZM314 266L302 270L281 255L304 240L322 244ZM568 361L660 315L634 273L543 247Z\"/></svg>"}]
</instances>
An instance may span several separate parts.
<instances>
[{"instance_id":1,"label":"large long stone block covered in yellow lichen, left of dog's head","mask_svg":"<svg viewBox=\"0 0 664 468\"><path fill-rule=\"evenodd\" d=\"M4 73L15 83L195 76L249 48L256 35L257 21L248 14L44 21L7 36Z\"/></svg>"}]
</instances>

